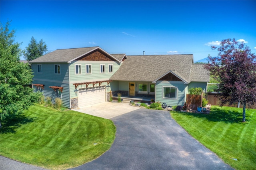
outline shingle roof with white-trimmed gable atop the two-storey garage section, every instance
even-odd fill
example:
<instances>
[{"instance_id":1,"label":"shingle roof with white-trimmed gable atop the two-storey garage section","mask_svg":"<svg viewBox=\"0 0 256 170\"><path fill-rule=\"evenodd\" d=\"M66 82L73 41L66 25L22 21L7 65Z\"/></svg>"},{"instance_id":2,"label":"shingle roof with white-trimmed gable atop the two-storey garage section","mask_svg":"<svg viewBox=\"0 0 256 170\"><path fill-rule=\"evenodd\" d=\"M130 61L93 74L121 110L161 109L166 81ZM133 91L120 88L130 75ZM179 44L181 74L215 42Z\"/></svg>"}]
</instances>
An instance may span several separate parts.
<instances>
[{"instance_id":1,"label":"shingle roof with white-trimmed gable atop the two-storey garage section","mask_svg":"<svg viewBox=\"0 0 256 170\"><path fill-rule=\"evenodd\" d=\"M52 51L51 53L48 53L46 55L43 55L41 57L38 57L30 61L30 63L70 63L92 51L95 51L96 49L100 49L100 51L102 51L112 59L118 61L119 63L121 62L119 59L107 53L100 47L84 47L84 48L57 49L55 51Z\"/></svg>"}]
</instances>

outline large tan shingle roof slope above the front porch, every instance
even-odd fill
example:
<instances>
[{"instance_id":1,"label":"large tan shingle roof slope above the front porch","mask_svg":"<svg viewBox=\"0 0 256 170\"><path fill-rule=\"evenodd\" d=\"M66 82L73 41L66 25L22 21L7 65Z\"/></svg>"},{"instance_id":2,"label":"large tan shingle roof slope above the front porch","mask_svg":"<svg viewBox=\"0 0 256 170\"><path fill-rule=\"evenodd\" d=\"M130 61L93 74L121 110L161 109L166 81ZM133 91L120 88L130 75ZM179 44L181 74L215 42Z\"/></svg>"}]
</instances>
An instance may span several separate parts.
<instances>
[{"instance_id":1,"label":"large tan shingle roof slope above the front porch","mask_svg":"<svg viewBox=\"0 0 256 170\"><path fill-rule=\"evenodd\" d=\"M128 55L110 80L154 81L168 71L178 72L190 82L193 55Z\"/></svg>"}]
</instances>

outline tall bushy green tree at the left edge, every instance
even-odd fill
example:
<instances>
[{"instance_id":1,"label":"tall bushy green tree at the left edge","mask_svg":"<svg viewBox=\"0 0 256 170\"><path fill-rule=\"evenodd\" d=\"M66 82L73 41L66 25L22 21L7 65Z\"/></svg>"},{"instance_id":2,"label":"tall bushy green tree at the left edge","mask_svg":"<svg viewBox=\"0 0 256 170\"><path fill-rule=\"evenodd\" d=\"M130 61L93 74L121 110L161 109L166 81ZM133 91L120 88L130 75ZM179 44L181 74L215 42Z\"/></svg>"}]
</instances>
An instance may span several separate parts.
<instances>
[{"instance_id":1,"label":"tall bushy green tree at the left edge","mask_svg":"<svg viewBox=\"0 0 256 170\"><path fill-rule=\"evenodd\" d=\"M20 61L20 44L14 42L14 30L10 22L0 23L0 127L1 120L20 114L39 98L28 84L32 82L32 70Z\"/></svg>"}]
</instances>

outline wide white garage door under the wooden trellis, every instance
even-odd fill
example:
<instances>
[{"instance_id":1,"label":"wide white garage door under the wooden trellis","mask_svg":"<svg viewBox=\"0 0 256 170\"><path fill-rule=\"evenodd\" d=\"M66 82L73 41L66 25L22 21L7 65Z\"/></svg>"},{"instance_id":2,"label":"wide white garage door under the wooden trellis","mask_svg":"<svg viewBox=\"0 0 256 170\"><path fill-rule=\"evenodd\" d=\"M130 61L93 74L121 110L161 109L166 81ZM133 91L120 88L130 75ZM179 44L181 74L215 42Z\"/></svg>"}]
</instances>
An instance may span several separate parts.
<instances>
[{"instance_id":1,"label":"wide white garage door under the wooden trellis","mask_svg":"<svg viewBox=\"0 0 256 170\"><path fill-rule=\"evenodd\" d=\"M105 101L105 86L79 89L78 107L92 105Z\"/></svg>"}]
</instances>

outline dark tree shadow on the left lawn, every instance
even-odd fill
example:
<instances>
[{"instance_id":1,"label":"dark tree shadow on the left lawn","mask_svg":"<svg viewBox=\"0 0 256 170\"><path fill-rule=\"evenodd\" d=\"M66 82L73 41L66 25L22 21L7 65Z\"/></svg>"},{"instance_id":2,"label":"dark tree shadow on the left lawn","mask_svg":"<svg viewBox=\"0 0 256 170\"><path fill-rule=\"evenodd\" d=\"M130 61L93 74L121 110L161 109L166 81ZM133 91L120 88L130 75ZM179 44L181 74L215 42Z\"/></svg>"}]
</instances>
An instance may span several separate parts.
<instances>
[{"instance_id":1,"label":"dark tree shadow on the left lawn","mask_svg":"<svg viewBox=\"0 0 256 170\"><path fill-rule=\"evenodd\" d=\"M23 114L16 115L10 119L5 119L2 121L2 128L0 129L0 133L15 133L16 129L21 125L25 125L27 123L31 123L35 118L27 117Z\"/></svg>"}]
</instances>

